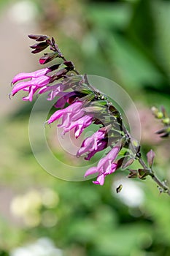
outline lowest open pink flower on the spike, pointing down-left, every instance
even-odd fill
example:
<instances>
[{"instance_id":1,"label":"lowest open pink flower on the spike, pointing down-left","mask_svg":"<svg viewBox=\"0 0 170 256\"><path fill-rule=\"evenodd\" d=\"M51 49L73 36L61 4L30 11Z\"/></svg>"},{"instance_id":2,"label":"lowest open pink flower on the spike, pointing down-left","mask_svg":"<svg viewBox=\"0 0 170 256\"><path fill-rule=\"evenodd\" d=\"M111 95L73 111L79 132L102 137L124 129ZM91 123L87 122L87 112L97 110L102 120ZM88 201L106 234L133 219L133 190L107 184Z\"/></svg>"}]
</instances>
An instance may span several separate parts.
<instances>
[{"instance_id":1,"label":"lowest open pink flower on the spike, pointing down-left","mask_svg":"<svg viewBox=\"0 0 170 256\"><path fill-rule=\"evenodd\" d=\"M107 154L106 157L102 158L96 167L90 167L85 173L85 177L98 173L98 177L96 181L93 181L94 184L100 184L101 186L104 184L104 178L115 172L117 170L117 163L115 163L115 159L120 151L120 144L113 147L111 151Z\"/></svg>"}]
</instances>

